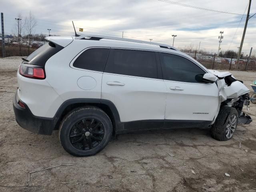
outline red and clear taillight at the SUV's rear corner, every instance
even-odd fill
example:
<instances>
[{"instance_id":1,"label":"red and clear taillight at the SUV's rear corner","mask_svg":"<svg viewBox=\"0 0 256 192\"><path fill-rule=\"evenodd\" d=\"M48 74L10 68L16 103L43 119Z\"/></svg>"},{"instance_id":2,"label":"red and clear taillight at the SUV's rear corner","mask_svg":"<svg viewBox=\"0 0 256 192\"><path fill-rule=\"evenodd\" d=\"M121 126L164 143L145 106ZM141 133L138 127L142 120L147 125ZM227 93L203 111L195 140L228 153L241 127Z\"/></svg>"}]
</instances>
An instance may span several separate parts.
<instances>
[{"instance_id":1,"label":"red and clear taillight at the SUV's rear corner","mask_svg":"<svg viewBox=\"0 0 256 192\"><path fill-rule=\"evenodd\" d=\"M45 79L44 68L31 64L21 64L19 73L28 78Z\"/></svg>"}]
</instances>

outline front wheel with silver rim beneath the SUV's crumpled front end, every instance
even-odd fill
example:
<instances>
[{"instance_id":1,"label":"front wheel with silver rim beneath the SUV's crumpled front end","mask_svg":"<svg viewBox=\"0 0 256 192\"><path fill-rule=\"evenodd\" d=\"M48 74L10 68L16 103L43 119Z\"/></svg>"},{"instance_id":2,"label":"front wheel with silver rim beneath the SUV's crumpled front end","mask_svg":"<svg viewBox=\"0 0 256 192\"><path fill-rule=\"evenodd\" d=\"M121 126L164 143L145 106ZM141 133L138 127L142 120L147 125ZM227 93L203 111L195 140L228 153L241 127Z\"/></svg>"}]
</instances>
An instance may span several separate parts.
<instances>
[{"instance_id":1,"label":"front wheel with silver rim beneath the SUV's crumpled front end","mask_svg":"<svg viewBox=\"0 0 256 192\"><path fill-rule=\"evenodd\" d=\"M211 135L219 141L232 139L238 122L238 112L233 107L222 106L211 128Z\"/></svg>"}]
</instances>

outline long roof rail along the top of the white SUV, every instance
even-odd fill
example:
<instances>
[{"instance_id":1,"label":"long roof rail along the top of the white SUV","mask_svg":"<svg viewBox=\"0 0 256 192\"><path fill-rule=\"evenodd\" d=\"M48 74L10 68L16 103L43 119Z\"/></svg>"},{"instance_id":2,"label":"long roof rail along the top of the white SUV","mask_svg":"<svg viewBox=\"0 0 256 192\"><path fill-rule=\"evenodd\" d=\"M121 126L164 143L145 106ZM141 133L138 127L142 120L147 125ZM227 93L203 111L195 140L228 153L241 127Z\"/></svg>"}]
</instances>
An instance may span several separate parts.
<instances>
[{"instance_id":1,"label":"long roof rail along the top of the white SUV","mask_svg":"<svg viewBox=\"0 0 256 192\"><path fill-rule=\"evenodd\" d=\"M140 41L135 39L127 39L127 38L120 38L120 37L112 37L112 36L103 36L103 35L81 35L76 37L75 39L88 39L88 40L100 40L100 39L111 39L111 40L119 40L119 41L128 41L128 42L135 42L135 43L144 43L144 44L151 44L151 45L158 45L161 48L172 49L178 51L178 49L174 48L173 46L148 42L148 41Z\"/></svg>"}]
</instances>

